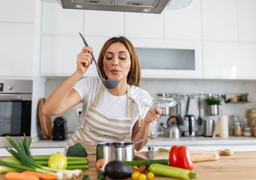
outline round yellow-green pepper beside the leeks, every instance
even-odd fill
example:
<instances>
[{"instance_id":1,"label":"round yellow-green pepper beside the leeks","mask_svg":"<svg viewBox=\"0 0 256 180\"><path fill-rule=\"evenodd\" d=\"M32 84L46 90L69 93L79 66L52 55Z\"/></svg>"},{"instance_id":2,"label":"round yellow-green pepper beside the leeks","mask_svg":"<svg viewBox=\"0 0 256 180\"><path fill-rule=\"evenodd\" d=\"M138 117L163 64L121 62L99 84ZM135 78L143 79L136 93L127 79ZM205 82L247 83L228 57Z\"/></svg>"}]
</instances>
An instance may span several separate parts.
<instances>
[{"instance_id":1,"label":"round yellow-green pepper beside the leeks","mask_svg":"<svg viewBox=\"0 0 256 180\"><path fill-rule=\"evenodd\" d=\"M48 167L65 170L68 165L67 157L60 152L52 154L48 160Z\"/></svg>"}]
</instances>

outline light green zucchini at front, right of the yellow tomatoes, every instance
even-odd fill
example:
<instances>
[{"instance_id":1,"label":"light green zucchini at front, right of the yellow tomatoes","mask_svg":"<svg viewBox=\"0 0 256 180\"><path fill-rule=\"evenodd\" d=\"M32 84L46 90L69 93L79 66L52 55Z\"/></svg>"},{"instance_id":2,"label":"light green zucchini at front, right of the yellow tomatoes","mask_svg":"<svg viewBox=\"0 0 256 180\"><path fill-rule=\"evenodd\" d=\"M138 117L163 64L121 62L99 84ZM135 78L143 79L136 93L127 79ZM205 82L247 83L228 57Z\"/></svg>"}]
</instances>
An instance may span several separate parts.
<instances>
[{"instance_id":1,"label":"light green zucchini at front, right of the yellow tomatoes","mask_svg":"<svg viewBox=\"0 0 256 180\"><path fill-rule=\"evenodd\" d=\"M170 167L162 164L151 164L149 170L156 176L165 176L176 179L196 179L197 173L179 167Z\"/></svg>"}]
</instances>

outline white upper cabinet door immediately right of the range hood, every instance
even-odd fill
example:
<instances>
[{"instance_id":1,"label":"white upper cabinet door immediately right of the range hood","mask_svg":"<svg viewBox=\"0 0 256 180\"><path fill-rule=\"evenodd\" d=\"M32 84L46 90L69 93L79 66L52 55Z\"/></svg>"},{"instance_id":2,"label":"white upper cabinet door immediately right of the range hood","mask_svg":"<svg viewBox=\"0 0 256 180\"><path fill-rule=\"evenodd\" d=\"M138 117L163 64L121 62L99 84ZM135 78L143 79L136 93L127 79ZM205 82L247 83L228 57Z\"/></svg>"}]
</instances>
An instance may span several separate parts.
<instances>
[{"instance_id":1,"label":"white upper cabinet door immediately right of the range hood","mask_svg":"<svg viewBox=\"0 0 256 180\"><path fill-rule=\"evenodd\" d=\"M201 0L179 10L164 10L164 38L202 39Z\"/></svg>"}]
</instances>

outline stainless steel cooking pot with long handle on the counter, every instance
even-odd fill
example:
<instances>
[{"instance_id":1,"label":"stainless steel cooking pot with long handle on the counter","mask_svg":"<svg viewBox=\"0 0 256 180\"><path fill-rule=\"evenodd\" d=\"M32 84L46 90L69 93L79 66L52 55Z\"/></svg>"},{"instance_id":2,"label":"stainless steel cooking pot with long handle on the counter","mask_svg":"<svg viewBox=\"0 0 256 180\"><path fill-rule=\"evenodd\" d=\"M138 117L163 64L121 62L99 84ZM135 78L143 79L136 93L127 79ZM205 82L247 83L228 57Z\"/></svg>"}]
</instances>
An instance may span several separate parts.
<instances>
[{"instance_id":1,"label":"stainless steel cooking pot with long handle on the counter","mask_svg":"<svg viewBox=\"0 0 256 180\"><path fill-rule=\"evenodd\" d=\"M148 138L160 135L163 132L147 136L135 142L101 142L96 145L96 161L104 158L106 162L119 160L119 161L132 161L134 158L134 145Z\"/></svg>"}]
</instances>

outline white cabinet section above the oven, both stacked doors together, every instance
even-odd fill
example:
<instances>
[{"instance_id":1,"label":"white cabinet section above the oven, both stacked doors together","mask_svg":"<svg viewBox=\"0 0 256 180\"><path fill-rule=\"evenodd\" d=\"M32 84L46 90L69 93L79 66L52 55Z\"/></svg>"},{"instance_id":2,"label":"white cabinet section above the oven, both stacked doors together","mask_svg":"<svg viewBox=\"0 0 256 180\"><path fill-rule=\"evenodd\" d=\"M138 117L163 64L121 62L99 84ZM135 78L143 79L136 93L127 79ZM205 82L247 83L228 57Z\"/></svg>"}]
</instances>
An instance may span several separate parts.
<instances>
[{"instance_id":1,"label":"white cabinet section above the oven, both stacked doors together","mask_svg":"<svg viewBox=\"0 0 256 180\"><path fill-rule=\"evenodd\" d=\"M34 9L33 0L1 1L1 77L33 76Z\"/></svg>"}]
</instances>

